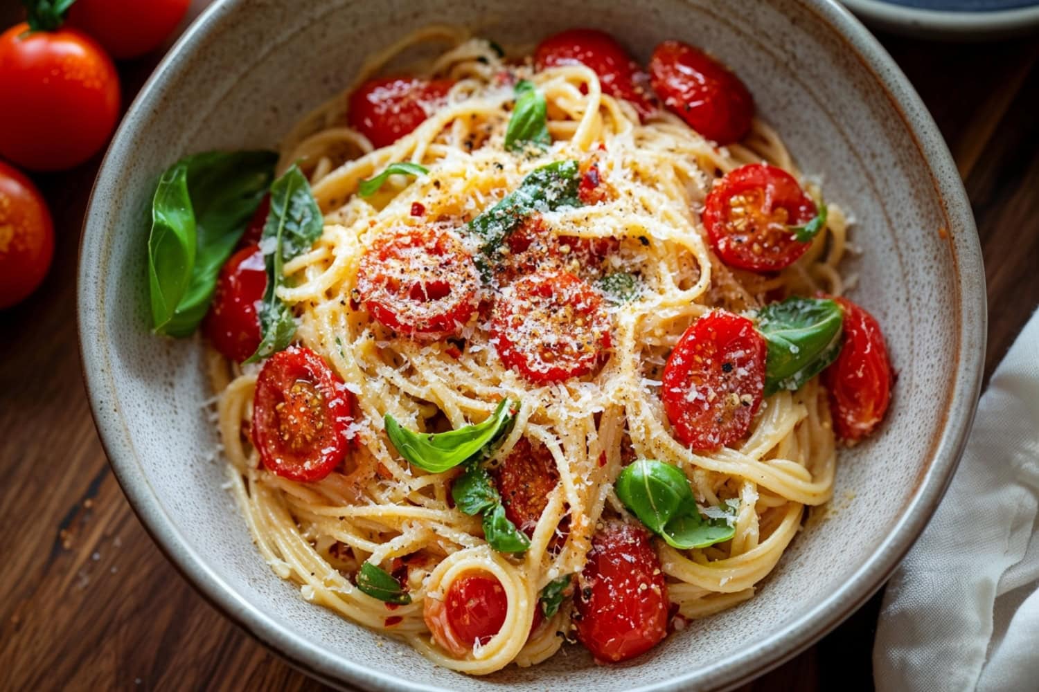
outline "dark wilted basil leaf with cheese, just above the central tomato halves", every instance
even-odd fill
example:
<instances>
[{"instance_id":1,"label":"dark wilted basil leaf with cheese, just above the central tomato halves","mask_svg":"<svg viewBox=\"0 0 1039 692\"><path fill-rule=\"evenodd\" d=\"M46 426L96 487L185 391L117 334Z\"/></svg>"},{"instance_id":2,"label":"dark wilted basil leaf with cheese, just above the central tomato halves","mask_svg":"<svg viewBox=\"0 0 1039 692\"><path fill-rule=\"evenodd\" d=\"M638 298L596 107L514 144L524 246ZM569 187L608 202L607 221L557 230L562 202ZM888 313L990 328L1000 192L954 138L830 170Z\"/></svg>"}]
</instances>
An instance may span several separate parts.
<instances>
[{"instance_id":1,"label":"dark wilted basil leaf with cheese, just above the central tomato halves","mask_svg":"<svg viewBox=\"0 0 1039 692\"><path fill-rule=\"evenodd\" d=\"M492 255L501 248L505 238L534 213L580 206L580 182L577 161L555 161L535 168L518 188L470 221L469 230L483 241L483 253Z\"/></svg>"}]
</instances>

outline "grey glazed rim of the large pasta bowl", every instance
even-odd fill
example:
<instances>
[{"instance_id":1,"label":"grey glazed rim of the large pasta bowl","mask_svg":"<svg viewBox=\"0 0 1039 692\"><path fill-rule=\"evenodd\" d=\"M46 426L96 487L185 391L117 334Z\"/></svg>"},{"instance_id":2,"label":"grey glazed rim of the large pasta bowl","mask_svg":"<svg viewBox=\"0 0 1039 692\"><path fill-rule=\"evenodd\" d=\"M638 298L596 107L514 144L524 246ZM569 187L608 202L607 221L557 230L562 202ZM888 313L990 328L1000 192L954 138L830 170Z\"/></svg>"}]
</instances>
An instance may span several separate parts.
<instances>
[{"instance_id":1,"label":"grey glazed rim of the large pasta bowl","mask_svg":"<svg viewBox=\"0 0 1039 692\"><path fill-rule=\"evenodd\" d=\"M193 51L214 28L242 9L246 2L218 0L203 12L159 63L119 126L95 181L95 191L99 187L118 187L124 167L112 153L117 148L117 142L136 136L136 123L144 119L144 114L154 107L162 84L185 68L186 63L177 66L175 58ZM958 367L953 376L953 387L944 412L944 426L932 445L930 461L921 472L915 492L894 529L847 582L757 645L736 652L707 669L690 670L671 680L638 688L638 692L684 690L694 685L698 689L727 689L741 685L796 656L861 606L897 566L944 494L963 452L981 390L986 334L985 274L970 205L949 148L909 81L876 38L848 10L832 0L798 2L843 36L852 54L874 75L928 164L935 194L941 200L947 221L950 221L947 227L957 229L951 234L950 242L958 289L955 306L955 319L959 324L956 334ZM918 115L910 116L910 113ZM106 240L107 229L89 226L87 222L96 217L94 206L98 203L91 192L80 243L77 295L80 357L90 410L102 445L124 493L153 539L204 598L298 669L334 686L352 684L387 692L444 692L444 688L372 670L363 662L337 656L292 633L232 589L191 549L178 530L135 454L127 421L121 415L103 412L106 402L117 400L101 324L104 309L98 300L104 292L100 288L88 290L84 280L87 276L86 239L89 237L105 244L109 242ZM955 223L952 223L954 220ZM106 255L102 252L103 257ZM95 329L86 334L85 327Z\"/></svg>"}]
</instances>

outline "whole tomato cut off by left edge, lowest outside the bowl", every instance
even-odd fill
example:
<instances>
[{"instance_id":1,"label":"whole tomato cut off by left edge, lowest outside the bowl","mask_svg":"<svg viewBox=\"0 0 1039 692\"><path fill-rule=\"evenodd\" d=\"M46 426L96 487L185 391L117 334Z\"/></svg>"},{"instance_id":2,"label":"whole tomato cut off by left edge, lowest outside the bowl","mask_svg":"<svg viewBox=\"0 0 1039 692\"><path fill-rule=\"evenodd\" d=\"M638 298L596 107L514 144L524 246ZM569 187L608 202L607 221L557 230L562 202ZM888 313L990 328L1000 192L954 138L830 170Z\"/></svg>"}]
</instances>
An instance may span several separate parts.
<instances>
[{"instance_id":1,"label":"whole tomato cut off by left edge, lowest outside the bowl","mask_svg":"<svg viewBox=\"0 0 1039 692\"><path fill-rule=\"evenodd\" d=\"M47 202L28 177L0 161L0 309L35 290L53 256Z\"/></svg>"}]
</instances>

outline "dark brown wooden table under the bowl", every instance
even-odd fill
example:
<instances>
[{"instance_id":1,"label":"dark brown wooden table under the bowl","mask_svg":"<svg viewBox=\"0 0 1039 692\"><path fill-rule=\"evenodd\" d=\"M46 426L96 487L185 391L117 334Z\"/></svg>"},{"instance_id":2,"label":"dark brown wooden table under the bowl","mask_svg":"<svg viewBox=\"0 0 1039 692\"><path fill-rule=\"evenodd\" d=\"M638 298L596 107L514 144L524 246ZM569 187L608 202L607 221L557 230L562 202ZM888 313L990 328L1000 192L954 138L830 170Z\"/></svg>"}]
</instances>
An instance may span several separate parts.
<instances>
[{"instance_id":1,"label":"dark brown wooden table under the bowl","mask_svg":"<svg viewBox=\"0 0 1039 692\"><path fill-rule=\"evenodd\" d=\"M0 8L2 26L14 4ZM882 40L966 181L988 281L987 379L1039 303L1039 40ZM121 65L125 103L156 62ZM108 467L75 313L80 226L99 164L34 176L54 214L54 266L32 298L0 312L0 689L323 689L199 598ZM744 690L872 689L879 607L878 594Z\"/></svg>"}]
</instances>

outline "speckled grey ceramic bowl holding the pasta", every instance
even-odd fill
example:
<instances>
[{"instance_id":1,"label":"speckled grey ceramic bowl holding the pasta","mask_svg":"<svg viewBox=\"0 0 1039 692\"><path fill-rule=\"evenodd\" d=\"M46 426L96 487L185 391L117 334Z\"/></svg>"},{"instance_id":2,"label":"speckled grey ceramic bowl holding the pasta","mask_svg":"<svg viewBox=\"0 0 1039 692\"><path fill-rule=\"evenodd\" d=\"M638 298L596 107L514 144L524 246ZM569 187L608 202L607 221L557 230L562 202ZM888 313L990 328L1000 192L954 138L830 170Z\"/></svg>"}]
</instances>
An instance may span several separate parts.
<instances>
[{"instance_id":1,"label":"speckled grey ceramic bowl holding the pasta","mask_svg":"<svg viewBox=\"0 0 1039 692\"><path fill-rule=\"evenodd\" d=\"M191 151L274 145L366 55L443 21L506 44L591 25L641 59L664 38L720 56L827 198L853 213L863 252L846 269L899 371L881 434L842 453L832 510L808 524L758 596L624 665L596 666L567 647L533 668L467 677L305 603L260 558L221 488L199 342L149 333L145 247L160 172ZM163 60L108 151L83 236L79 320L98 430L141 521L210 601L299 668L377 690L709 689L822 636L921 532L970 425L985 286L970 209L934 122L883 49L831 2L224 0Z\"/></svg>"}]
</instances>

